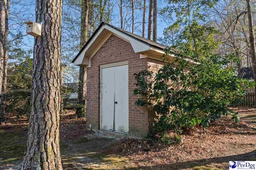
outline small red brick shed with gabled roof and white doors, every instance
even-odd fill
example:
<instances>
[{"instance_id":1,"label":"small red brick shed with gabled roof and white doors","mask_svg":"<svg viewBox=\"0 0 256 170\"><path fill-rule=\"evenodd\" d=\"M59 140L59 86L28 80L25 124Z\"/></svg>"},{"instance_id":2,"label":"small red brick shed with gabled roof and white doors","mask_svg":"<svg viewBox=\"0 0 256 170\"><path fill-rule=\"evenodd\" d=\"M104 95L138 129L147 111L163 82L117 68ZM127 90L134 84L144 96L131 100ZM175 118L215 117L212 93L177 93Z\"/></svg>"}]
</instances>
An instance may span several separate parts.
<instances>
[{"instance_id":1,"label":"small red brick shed with gabled roof and white doors","mask_svg":"<svg viewBox=\"0 0 256 170\"><path fill-rule=\"evenodd\" d=\"M101 23L75 59L87 68L86 123L92 129L145 137L153 113L134 105L133 74L142 70L157 72L164 64L166 46L107 23ZM175 54L176 51L173 51ZM170 55L174 57L174 55Z\"/></svg>"}]
</instances>

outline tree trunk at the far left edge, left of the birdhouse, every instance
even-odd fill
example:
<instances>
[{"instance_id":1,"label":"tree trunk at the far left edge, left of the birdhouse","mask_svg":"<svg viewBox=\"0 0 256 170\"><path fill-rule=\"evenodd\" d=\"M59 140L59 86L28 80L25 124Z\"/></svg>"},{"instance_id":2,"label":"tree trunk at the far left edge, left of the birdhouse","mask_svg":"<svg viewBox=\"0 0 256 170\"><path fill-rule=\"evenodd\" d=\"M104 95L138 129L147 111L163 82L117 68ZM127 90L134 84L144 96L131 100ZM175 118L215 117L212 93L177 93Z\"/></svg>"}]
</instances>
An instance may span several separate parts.
<instances>
[{"instance_id":1,"label":"tree trunk at the far left edge, left of the birdhouse","mask_svg":"<svg viewBox=\"0 0 256 170\"><path fill-rule=\"evenodd\" d=\"M5 99L7 84L7 60L8 60L8 21L10 14L10 0L0 1L0 87L1 87L1 104L0 104L0 124L4 123Z\"/></svg>"}]
</instances>

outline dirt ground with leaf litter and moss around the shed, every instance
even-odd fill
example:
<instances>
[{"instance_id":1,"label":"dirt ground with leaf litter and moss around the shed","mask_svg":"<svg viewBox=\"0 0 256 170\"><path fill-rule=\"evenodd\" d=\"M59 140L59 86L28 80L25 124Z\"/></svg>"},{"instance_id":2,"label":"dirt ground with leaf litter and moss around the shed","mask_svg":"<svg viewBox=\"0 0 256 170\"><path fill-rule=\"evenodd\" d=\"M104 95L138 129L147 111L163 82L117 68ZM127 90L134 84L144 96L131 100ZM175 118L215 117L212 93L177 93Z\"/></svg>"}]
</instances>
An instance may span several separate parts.
<instances>
[{"instance_id":1,"label":"dirt ground with leaf litter and moss around the shed","mask_svg":"<svg viewBox=\"0 0 256 170\"><path fill-rule=\"evenodd\" d=\"M181 135L166 146L146 140L104 137L87 130L85 119L66 111L60 123L60 150L65 170L218 170L229 160L256 160L256 108L234 108L240 123L222 118L207 129ZM0 126L0 170L17 169L26 147L28 120L8 115Z\"/></svg>"}]
</instances>

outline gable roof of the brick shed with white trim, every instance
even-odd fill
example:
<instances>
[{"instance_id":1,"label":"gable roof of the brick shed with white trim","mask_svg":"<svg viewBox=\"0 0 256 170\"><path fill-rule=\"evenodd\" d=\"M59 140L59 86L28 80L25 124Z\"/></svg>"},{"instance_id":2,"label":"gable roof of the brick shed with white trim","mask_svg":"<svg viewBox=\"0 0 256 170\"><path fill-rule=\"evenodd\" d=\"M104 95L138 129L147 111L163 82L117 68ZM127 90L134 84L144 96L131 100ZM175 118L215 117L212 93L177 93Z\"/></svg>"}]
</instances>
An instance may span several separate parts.
<instances>
[{"instance_id":1,"label":"gable roof of the brick shed with white trim","mask_svg":"<svg viewBox=\"0 0 256 170\"><path fill-rule=\"evenodd\" d=\"M162 61L162 55L165 53L166 45L156 43L144 37L140 37L134 33L125 31L108 23L102 22L96 31L92 34L84 47L79 51L78 55L73 59L72 63L78 66L91 66L91 59L102 45L108 40L111 35L115 35L124 41L129 42L135 53L140 54L140 59L152 58ZM175 49L170 49L168 55L172 59L181 52ZM190 63L196 63L193 59L185 57Z\"/></svg>"}]
</instances>

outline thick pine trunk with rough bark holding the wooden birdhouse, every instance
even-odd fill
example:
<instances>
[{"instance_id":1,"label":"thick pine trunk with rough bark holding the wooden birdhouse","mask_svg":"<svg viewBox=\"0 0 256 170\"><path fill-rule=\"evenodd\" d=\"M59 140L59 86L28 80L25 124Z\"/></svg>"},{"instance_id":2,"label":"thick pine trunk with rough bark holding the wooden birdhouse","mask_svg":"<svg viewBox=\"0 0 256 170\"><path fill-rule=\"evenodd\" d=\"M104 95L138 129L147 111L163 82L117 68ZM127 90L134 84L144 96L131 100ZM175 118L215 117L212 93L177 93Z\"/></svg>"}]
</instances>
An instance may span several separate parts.
<instances>
[{"instance_id":1,"label":"thick pine trunk with rough bark holding the wooden birdhouse","mask_svg":"<svg viewBox=\"0 0 256 170\"><path fill-rule=\"evenodd\" d=\"M62 0L36 0L42 36L34 42L28 141L20 170L62 170L60 77Z\"/></svg>"}]
</instances>

